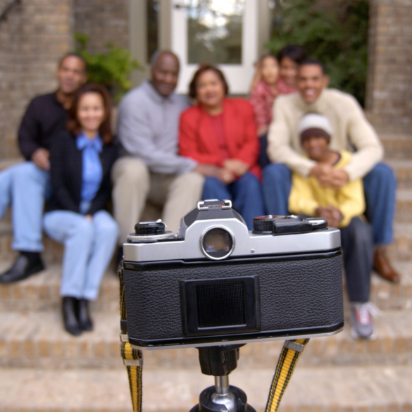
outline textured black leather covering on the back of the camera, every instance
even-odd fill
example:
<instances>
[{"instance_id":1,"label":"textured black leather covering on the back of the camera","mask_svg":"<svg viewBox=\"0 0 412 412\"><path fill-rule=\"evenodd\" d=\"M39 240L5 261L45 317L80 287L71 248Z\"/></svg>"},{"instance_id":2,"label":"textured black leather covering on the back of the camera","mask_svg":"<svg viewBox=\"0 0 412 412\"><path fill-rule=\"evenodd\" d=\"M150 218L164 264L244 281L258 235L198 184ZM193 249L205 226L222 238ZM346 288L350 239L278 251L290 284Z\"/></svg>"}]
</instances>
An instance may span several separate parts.
<instances>
[{"instance_id":1,"label":"textured black leather covering on the back of the camera","mask_svg":"<svg viewBox=\"0 0 412 412\"><path fill-rule=\"evenodd\" d=\"M259 275L262 331L343 322L342 256L125 270L127 332L139 340L183 337L180 280ZM227 262L226 262L227 263Z\"/></svg>"}]
</instances>

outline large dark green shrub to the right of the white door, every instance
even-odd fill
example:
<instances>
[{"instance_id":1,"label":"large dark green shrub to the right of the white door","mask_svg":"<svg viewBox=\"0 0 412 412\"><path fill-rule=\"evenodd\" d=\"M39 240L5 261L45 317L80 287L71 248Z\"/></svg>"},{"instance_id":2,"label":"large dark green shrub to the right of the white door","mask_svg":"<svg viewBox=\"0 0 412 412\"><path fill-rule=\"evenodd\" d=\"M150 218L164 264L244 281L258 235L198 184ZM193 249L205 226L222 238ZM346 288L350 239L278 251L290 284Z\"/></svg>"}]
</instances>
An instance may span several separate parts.
<instances>
[{"instance_id":1,"label":"large dark green shrub to the right of the white door","mask_svg":"<svg viewBox=\"0 0 412 412\"><path fill-rule=\"evenodd\" d=\"M330 87L348 92L365 102L368 66L367 0L335 2L324 11L316 0L276 1L273 37L266 45L277 53L287 44L303 46L309 56L323 62L330 75ZM339 6L339 8L338 8Z\"/></svg>"}]
</instances>

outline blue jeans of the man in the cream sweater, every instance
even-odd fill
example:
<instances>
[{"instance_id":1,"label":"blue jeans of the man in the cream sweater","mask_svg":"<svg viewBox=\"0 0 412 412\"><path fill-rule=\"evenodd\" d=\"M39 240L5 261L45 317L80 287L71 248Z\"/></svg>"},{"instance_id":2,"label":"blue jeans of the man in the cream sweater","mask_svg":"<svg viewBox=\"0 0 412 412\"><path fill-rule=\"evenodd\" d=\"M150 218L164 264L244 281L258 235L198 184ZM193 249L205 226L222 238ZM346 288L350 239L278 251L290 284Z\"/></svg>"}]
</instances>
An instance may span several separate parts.
<instances>
[{"instance_id":1,"label":"blue jeans of the man in the cream sweater","mask_svg":"<svg viewBox=\"0 0 412 412\"><path fill-rule=\"evenodd\" d=\"M263 200L271 215L287 215L287 200L292 187L292 173L287 166L271 163L263 170ZM366 217L373 227L375 245L391 244L395 214L397 180L389 166L377 165L363 178Z\"/></svg>"}]
</instances>

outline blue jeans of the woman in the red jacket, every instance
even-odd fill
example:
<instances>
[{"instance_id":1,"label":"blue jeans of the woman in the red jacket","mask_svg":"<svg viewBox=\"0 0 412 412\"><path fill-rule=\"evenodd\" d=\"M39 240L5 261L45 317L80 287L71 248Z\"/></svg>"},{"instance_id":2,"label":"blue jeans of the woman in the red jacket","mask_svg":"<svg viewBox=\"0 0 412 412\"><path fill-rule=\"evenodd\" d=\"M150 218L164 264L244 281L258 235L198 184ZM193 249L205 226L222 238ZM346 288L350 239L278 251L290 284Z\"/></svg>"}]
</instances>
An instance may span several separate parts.
<instances>
[{"instance_id":1,"label":"blue jeans of the woman in the red jacket","mask_svg":"<svg viewBox=\"0 0 412 412\"><path fill-rule=\"evenodd\" d=\"M201 198L232 200L233 208L242 215L249 230L253 228L253 218L264 214L261 183L249 172L230 185L225 185L216 177L206 177Z\"/></svg>"}]
</instances>

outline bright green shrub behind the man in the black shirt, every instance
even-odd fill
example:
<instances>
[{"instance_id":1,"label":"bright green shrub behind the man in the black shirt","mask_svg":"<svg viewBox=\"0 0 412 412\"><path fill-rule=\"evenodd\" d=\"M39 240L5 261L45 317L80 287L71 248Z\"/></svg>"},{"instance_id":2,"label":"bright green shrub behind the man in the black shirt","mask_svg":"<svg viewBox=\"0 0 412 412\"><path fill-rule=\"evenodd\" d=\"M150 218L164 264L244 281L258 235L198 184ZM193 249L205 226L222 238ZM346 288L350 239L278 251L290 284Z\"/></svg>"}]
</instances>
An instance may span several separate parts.
<instances>
[{"instance_id":1,"label":"bright green shrub behind the man in the black shirt","mask_svg":"<svg viewBox=\"0 0 412 412\"><path fill-rule=\"evenodd\" d=\"M129 74L133 70L142 70L142 65L130 58L130 51L117 47L114 44L106 44L106 53L91 54L87 51L89 36L75 33L76 53L80 54L87 62L87 72L90 82L105 85L113 99L118 102L130 89Z\"/></svg>"}]
</instances>

